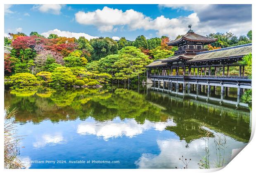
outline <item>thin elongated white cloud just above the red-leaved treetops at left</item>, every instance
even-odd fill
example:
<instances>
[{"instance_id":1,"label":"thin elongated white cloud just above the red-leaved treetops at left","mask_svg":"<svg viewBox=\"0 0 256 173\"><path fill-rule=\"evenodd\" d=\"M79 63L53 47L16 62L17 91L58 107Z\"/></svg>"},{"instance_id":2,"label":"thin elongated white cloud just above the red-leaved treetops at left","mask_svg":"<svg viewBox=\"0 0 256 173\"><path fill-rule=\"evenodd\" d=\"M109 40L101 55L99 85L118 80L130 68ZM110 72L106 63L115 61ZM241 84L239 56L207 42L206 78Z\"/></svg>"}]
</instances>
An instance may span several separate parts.
<instances>
[{"instance_id":1,"label":"thin elongated white cloud just above the red-leaved treetops at left","mask_svg":"<svg viewBox=\"0 0 256 173\"><path fill-rule=\"evenodd\" d=\"M88 34L85 34L85 33L71 33L69 31L58 30L58 29L49 30L45 33L41 33L41 35L43 35L45 37L48 37L50 34L57 34L58 36L61 36L61 37L70 37L70 38L75 37L76 39L78 39L80 36L83 36L88 40L93 39L93 38L97 38L95 36L91 36L91 35L88 35Z\"/></svg>"}]
</instances>

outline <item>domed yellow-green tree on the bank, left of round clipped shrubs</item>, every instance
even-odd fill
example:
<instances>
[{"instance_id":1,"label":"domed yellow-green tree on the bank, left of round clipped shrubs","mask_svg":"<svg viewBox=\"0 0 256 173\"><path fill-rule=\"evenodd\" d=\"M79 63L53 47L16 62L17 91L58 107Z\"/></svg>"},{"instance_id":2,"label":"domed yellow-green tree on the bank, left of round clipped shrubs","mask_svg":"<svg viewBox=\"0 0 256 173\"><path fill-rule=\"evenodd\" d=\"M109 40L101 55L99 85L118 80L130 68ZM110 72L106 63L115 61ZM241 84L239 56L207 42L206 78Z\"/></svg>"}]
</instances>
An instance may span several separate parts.
<instances>
[{"instance_id":1,"label":"domed yellow-green tree on the bank, left of round clipped shrubs","mask_svg":"<svg viewBox=\"0 0 256 173\"><path fill-rule=\"evenodd\" d=\"M70 86L76 81L76 76L73 75L72 71L68 67L57 67L52 72L52 83L51 86Z\"/></svg>"}]
</instances>

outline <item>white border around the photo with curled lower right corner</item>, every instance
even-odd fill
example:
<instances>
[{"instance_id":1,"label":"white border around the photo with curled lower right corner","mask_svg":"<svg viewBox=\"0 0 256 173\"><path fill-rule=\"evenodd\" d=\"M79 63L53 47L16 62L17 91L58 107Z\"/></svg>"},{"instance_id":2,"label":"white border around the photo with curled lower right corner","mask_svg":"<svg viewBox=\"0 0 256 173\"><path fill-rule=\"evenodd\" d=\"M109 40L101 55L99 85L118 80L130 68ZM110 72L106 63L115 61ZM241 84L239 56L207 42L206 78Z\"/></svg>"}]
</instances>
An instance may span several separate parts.
<instances>
[{"instance_id":1,"label":"white border around the photo with curled lower right corner","mask_svg":"<svg viewBox=\"0 0 256 173\"><path fill-rule=\"evenodd\" d=\"M156 3L157 2L157 3ZM4 4L191 4L191 2L194 2L193 4L208 4L206 3L207 1L205 0L197 0L197 1L191 1L191 0L55 0L55 1L50 1L50 0L4 0L1 1L1 33L2 37L4 35ZM253 40L256 40L255 36L255 21L254 21L254 16L256 16L256 1L255 0L214 0L214 1L208 1L211 4L252 4L252 31L253 31ZM1 47L3 47L4 42L1 42ZM253 50L252 54L255 53L255 47L253 44ZM3 55L3 49L1 49L1 54ZM1 112L3 115L4 112L4 58L3 56L0 56L1 58L1 66L0 66L0 72L2 72L2 75L0 76L0 81L1 82L1 92L0 92L0 99L1 99ZM254 81L254 76L256 76L256 57L253 56L253 81ZM256 116L256 111L254 108L256 108L256 99L255 99L255 84L254 82L252 83L252 88L253 88L253 105L252 105L252 136L255 131L255 116ZM2 116L2 121L1 121L1 129L3 132L3 116ZM1 159L1 168L4 168L4 161L3 161L3 133L1 133L1 144L2 144L2 151L0 152L0 159ZM26 170L2 170L5 172L42 172L44 173L45 171L47 172L62 172L62 173L70 173L70 172L111 172L111 173L120 173L121 172L163 172L163 173L170 173L170 172L189 172L189 173L198 173L198 172L213 172L213 171L218 171L220 173L236 173L236 172L252 172L255 169L255 147L256 147L256 140L253 138L251 142L238 154L237 157L235 157L225 168L223 169L210 169L210 170L200 170L200 169L107 169L107 170L97 170L97 169L26 169Z\"/></svg>"}]
</instances>

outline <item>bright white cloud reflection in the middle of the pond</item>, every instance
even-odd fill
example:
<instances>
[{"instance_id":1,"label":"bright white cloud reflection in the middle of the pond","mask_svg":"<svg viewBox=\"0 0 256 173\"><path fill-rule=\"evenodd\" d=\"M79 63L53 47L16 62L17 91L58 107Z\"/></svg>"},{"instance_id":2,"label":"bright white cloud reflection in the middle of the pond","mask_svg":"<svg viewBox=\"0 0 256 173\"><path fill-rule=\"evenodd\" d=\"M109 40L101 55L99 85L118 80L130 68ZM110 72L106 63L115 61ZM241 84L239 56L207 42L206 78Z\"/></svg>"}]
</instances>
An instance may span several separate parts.
<instances>
[{"instance_id":1,"label":"bright white cloud reflection in the middle of the pond","mask_svg":"<svg viewBox=\"0 0 256 173\"><path fill-rule=\"evenodd\" d=\"M109 138L116 138L119 136L128 136L132 138L133 136L143 133L145 130L155 129L158 131L163 131L166 126L175 126L176 124L172 120L167 122L149 122L145 120L144 124L138 124L135 119L125 119L121 121L120 119L114 119L113 121L106 122L96 122L96 121L86 121L78 125L77 133L82 135L96 135L98 137L103 137L104 140Z\"/></svg>"}]
</instances>

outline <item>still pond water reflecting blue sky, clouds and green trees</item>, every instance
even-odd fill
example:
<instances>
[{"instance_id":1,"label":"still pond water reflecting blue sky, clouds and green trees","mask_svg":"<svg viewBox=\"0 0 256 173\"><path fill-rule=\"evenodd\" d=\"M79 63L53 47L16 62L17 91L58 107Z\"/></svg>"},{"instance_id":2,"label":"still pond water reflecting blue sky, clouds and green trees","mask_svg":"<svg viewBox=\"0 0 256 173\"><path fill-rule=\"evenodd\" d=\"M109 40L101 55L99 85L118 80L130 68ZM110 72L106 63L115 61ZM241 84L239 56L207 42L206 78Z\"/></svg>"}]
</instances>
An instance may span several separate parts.
<instances>
[{"instance_id":1,"label":"still pond water reflecting blue sky, clouds and green trees","mask_svg":"<svg viewBox=\"0 0 256 173\"><path fill-rule=\"evenodd\" d=\"M182 156L191 159L188 168L199 168L207 139L201 126L212 134L207 147L214 168L217 137L226 140L221 156L227 164L251 134L249 108L142 86L6 89L5 105L19 108L13 118L27 168L183 168Z\"/></svg>"}]
</instances>

